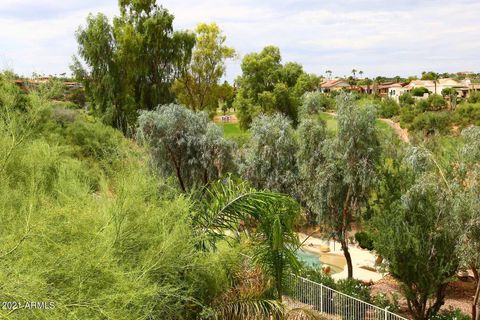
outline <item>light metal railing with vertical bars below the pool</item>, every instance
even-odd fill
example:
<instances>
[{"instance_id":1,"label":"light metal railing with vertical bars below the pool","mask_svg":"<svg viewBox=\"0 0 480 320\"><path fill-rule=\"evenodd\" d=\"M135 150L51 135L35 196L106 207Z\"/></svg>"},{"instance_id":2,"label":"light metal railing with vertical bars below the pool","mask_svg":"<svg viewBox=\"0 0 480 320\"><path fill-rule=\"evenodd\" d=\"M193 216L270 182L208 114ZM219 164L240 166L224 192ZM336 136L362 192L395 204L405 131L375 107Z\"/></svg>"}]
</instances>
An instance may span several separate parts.
<instances>
[{"instance_id":1,"label":"light metal railing with vertical bars below the pool","mask_svg":"<svg viewBox=\"0 0 480 320\"><path fill-rule=\"evenodd\" d=\"M327 319L407 320L388 309L359 300L311 280L290 275L286 279L286 295L292 307L313 309Z\"/></svg>"}]
</instances>

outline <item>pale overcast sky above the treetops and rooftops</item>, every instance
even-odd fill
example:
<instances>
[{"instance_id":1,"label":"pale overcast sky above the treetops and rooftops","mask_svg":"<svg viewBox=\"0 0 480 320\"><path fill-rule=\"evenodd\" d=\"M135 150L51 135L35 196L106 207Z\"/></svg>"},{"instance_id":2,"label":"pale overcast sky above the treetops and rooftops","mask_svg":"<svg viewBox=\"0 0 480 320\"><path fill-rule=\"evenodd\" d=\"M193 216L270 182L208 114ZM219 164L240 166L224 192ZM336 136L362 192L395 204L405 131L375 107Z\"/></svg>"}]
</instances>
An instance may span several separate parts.
<instances>
[{"instance_id":1,"label":"pale overcast sky above the treetops and rooftops","mask_svg":"<svg viewBox=\"0 0 480 320\"><path fill-rule=\"evenodd\" d=\"M307 72L365 76L423 70L480 72L479 0L166 0L175 28L217 22L243 56L265 45ZM69 72L74 32L88 13L118 14L115 0L0 0L0 69ZM230 62L227 79L240 73Z\"/></svg>"}]
</instances>

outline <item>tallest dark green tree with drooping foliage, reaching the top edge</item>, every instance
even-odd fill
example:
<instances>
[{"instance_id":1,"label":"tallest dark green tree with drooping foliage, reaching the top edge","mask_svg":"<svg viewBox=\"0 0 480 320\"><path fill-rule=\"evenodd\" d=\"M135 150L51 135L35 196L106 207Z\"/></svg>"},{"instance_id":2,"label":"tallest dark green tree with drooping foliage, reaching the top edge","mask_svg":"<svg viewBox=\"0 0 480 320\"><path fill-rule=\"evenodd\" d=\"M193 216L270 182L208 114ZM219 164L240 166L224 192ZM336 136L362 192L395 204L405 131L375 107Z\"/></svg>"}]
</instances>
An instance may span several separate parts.
<instances>
[{"instance_id":1,"label":"tallest dark green tree with drooping foliage, reaching the top edge","mask_svg":"<svg viewBox=\"0 0 480 320\"><path fill-rule=\"evenodd\" d=\"M195 36L174 31L173 15L153 0L121 0L120 16L89 15L77 30L72 70L105 122L127 133L137 110L172 102L171 85L190 63Z\"/></svg>"}]
</instances>

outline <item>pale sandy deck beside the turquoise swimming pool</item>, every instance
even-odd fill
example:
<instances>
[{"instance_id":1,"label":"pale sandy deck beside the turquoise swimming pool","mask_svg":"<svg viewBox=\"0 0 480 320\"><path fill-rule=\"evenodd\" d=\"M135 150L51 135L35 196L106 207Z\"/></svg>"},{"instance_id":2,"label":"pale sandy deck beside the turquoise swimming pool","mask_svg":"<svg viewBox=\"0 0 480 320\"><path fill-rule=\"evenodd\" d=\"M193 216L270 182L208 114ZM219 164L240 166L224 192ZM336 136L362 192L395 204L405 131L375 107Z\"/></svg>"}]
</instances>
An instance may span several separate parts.
<instances>
[{"instance_id":1,"label":"pale sandy deck beside the turquoise swimming pool","mask_svg":"<svg viewBox=\"0 0 480 320\"><path fill-rule=\"evenodd\" d=\"M320 256L321 255L327 256L329 257L328 260L331 260L333 256L338 256L338 259L335 259L336 261L334 263L330 261L324 261L330 264L343 267L342 272L332 274L333 279L340 280L340 279L346 279L348 277L348 270L345 263L345 258L343 256L341 245L338 241L337 242L334 242L333 240L327 241L327 240L319 239L315 237L310 237L307 240L305 240L308 237L308 235L301 232L298 233L298 237L300 239L300 242L305 241L302 248L306 251L316 253ZM328 247L330 249L328 253L324 253L320 251L321 248L325 248L325 247ZM365 269L365 268L375 269L375 261L377 259L377 256L373 252L361 249L354 245L349 245L348 249L352 257L353 277L355 279L365 281L365 282L377 282L383 278L384 274L377 271L371 271L371 270ZM320 258L320 261L322 260L324 259Z\"/></svg>"}]
</instances>

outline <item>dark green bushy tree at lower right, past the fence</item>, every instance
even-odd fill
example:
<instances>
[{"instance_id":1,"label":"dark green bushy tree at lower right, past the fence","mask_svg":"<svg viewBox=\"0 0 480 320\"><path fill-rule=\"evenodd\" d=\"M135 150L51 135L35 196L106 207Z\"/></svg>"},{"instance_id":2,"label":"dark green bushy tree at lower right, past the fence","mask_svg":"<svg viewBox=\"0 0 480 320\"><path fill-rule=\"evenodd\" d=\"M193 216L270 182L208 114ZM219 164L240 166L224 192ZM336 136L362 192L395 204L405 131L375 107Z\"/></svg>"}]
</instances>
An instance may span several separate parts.
<instances>
[{"instance_id":1,"label":"dark green bushy tree at lower right, past the fence","mask_svg":"<svg viewBox=\"0 0 480 320\"><path fill-rule=\"evenodd\" d=\"M455 195L425 149L409 150L395 180L406 192L394 194L373 218L374 246L400 281L413 318L430 319L444 304L459 266Z\"/></svg>"}]
</instances>

